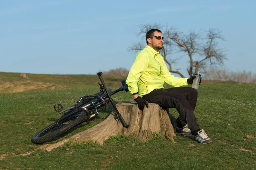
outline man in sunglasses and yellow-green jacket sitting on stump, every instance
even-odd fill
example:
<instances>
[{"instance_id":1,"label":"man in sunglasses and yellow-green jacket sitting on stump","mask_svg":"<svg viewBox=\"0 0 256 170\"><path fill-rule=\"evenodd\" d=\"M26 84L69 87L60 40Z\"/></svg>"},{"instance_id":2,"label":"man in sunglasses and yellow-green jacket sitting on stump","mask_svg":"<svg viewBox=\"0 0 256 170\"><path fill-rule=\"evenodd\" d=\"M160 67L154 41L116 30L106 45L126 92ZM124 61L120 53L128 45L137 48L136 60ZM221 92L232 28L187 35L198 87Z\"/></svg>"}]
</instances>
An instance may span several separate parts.
<instances>
[{"instance_id":1,"label":"man in sunglasses and yellow-green jacket sitting on stump","mask_svg":"<svg viewBox=\"0 0 256 170\"><path fill-rule=\"evenodd\" d=\"M191 85L192 78L179 78L170 74L159 50L163 48L163 35L158 29L151 29L146 34L146 47L137 54L131 66L126 83L140 110L148 108L148 102L161 107L176 108L179 112L176 134L192 133L203 144L212 142L203 129L200 129L193 113L198 93ZM175 88L164 89L164 82Z\"/></svg>"}]
</instances>

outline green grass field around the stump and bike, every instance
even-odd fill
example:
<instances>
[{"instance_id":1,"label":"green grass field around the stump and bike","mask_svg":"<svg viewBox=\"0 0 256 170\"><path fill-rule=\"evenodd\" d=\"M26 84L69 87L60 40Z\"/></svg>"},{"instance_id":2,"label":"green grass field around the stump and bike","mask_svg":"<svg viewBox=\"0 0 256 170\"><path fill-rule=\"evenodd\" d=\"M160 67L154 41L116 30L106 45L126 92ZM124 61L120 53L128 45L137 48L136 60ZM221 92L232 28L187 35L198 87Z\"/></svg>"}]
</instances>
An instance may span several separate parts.
<instances>
[{"instance_id":1,"label":"green grass field around the stump and bike","mask_svg":"<svg viewBox=\"0 0 256 170\"><path fill-rule=\"evenodd\" d=\"M112 90L118 87L111 87ZM94 94L99 88L61 91L28 91L0 94L0 169L90 169L90 170L218 170L256 169L256 85L201 85L195 109L198 123L209 137L210 144L198 144L193 136L175 136L175 143L155 134L148 142L134 136L116 136L104 145L87 141L66 143L50 152L36 150L28 156L20 154L38 148L32 136L60 115L52 106L65 108L80 96ZM132 95L120 92L116 102L131 100ZM177 118L175 109L170 113ZM99 117L70 130L55 143L93 127L109 115Z\"/></svg>"}]
</instances>

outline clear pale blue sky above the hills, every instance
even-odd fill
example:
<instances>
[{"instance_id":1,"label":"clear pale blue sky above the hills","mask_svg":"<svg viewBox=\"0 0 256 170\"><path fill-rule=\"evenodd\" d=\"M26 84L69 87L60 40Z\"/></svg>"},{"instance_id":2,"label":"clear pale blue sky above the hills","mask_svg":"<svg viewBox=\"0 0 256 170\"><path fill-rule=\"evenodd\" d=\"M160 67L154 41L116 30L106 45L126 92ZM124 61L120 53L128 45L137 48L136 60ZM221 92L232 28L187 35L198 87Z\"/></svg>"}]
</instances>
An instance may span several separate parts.
<instances>
[{"instance_id":1,"label":"clear pale blue sky above the hills","mask_svg":"<svg viewBox=\"0 0 256 170\"><path fill-rule=\"evenodd\" d=\"M253 0L9 0L0 2L0 71L96 74L131 68L128 51L140 25L175 26L187 33L217 28L226 41L224 68L256 73ZM177 57L174 54L174 58ZM173 68L187 77L187 58Z\"/></svg>"}]
</instances>

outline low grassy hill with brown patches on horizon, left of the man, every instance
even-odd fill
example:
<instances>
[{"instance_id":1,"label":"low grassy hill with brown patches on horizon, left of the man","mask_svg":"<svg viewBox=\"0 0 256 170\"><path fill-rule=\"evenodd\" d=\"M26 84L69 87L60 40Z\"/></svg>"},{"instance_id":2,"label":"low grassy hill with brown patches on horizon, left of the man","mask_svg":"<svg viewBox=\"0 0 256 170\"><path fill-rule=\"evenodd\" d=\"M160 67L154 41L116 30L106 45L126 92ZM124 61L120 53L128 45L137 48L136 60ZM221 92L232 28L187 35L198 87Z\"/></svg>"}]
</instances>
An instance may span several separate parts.
<instances>
[{"instance_id":1,"label":"low grassy hill with brown patches on horizon, left of the man","mask_svg":"<svg viewBox=\"0 0 256 170\"><path fill-rule=\"evenodd\" d=\"M104 79L107 85L119 86L126 77L104 75ZM54 75L0 72L0 93L92 88L96 87L97 82L99 78L96 74Z\"/></svg>"}]
</instances>

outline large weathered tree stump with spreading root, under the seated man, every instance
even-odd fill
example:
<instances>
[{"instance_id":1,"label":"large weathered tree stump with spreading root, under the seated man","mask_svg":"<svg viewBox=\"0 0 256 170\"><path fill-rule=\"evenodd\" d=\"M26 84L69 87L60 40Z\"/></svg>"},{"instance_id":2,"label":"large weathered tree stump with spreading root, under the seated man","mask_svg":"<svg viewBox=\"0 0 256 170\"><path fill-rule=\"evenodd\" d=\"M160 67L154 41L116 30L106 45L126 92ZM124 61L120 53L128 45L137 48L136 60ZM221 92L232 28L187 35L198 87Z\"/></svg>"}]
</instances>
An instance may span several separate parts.
<instances>
[{"instance_id":1,"label":"large weathered tree stump with spreading root, under the seated man","mask_svg":"<svg viewBox=\"0 0 256 170\"><path fill-rule=\"evenodd\" d=\"M164 138L174 142L173 136L174 123L171 122L169 115L169 108L161 108L154 103L148 103L148 108L140 111L137 103L135 102L119 102L116 108L121 113L125 122L130 126L128 128L122 127L121 122L114 119L113 114L108 116L103 122L95 125L94 127L84 130L76 135L70 136L55 144L46 144L41 146L41 149L52 150L55 147L63 145L65 142L71 141L72 143L83 142L92 140L103 144L110 136L117 136L121 134L136 135L142 141L153 138L153 133L159 133Z\"/></svg>"}]
</instances>

